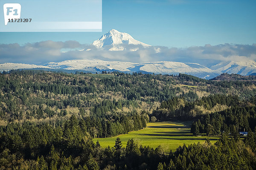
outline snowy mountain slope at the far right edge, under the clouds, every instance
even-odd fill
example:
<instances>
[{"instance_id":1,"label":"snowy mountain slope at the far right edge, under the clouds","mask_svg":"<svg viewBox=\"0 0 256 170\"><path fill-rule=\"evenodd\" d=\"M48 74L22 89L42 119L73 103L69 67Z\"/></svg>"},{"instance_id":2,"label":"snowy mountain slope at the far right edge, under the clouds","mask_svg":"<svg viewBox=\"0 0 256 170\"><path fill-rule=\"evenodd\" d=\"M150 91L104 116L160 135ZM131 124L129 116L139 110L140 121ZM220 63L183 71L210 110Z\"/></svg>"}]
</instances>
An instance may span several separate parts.
<instances>
[{"instance_id":1,"label":"snowy mountain slope at the far right edge, under the clouds","mask_svg":"<svg viewBox=\"0 0 256 170\"><path fill-rule=\"evenodd\" d=\"M228 74L233 73L233 74L240 74L240 75L246 76L252 73L256 73L256 62L254 61L220 62L217 65L213 65L211 69L221 73L228 73Z\"/></svg>"}]
</instances>

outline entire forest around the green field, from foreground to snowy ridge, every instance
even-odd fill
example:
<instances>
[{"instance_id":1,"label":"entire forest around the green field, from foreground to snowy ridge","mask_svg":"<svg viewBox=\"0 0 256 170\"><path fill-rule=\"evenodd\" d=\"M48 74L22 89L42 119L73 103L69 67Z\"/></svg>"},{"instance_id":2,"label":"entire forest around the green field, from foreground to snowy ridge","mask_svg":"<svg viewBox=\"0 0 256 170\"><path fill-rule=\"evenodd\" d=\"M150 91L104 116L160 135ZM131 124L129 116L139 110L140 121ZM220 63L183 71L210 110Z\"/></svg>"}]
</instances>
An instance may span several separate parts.
<instances>
[{"instance_id":1,"label":"entire forest around the green field, from foreground to snowy ridge","mask_svg":"<svg viewBox=\"0 0 256 170\"><path fill-rule=\"evenodd\" d=\"M0 74L0 167L167 170L214 169L225 164L229 169L238 161L237 167L253 169L255 94L254 79L214 81L186 74L120 72L4 72ZM174 118L194 120L191 132L195 136L225 134L214 146L183 146L170 156L161 147L138 146L133 139L126 149L120 149L119 141L116 148L101 148L92 140L140 130L150 121ZM227 134L237 135L239 130L250 132L247 143L227 138ZM192 153L199 150L202 154L196 156L200 159L193 157ZM212 159L205 159L204 154L210 153ZM227 159L221 162L218 156ZM187 164L182 163L185 160ZM209 166L211 161L215 166Z\"/></svg>"}]
</instances>

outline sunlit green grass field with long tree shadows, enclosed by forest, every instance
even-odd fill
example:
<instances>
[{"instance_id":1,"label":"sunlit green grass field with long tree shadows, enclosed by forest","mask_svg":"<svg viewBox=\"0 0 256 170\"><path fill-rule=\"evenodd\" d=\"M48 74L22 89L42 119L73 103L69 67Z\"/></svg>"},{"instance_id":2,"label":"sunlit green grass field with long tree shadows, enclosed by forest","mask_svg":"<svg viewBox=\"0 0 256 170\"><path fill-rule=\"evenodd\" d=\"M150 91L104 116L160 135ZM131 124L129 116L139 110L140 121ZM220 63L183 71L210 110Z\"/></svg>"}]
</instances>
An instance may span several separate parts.
<instances>
[{"instance_id":1,"label":"sunlit green grass field with long tree shadows, enclosed by forest","mask_svg":"<svg viewBox=\"0 0 256 170\"><path fill-rule=\"evenodd\" d=\"M132 131L128 134L120 135L123 147L126 147L128 139L133 138L138 144L143 146L157 147L161 145L166 151L176 150L183 144L204 143L207 136L192 136L189 125L191 122L155 122L148 123L142 130ZM219 137L209 137L212 143L215 143ZM102 147L113 147L116 137L93 139L99 140Z\"/></svg>"}]
</instances>

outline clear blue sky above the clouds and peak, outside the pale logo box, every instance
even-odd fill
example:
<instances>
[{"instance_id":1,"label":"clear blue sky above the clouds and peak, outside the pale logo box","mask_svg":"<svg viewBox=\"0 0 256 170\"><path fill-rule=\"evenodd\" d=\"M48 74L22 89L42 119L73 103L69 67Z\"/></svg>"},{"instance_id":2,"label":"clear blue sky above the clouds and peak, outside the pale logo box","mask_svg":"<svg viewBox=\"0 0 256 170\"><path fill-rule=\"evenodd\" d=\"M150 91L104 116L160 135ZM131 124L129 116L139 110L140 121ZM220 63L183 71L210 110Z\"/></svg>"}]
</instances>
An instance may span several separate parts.
<instances>
[{"instance_id":1,"label":"clear blue sky above the clouds and peak, outside the pale logo box","mask_svg":"<svg viewBox=\"0 0 256 170\"><path fill-rule=\"evenodd\" d=\"M76 40L89 44L112 28L150 45L256 43L256 0L102 0L102 32L0 33L0 43Z\"/></svg>"}]
</instances>

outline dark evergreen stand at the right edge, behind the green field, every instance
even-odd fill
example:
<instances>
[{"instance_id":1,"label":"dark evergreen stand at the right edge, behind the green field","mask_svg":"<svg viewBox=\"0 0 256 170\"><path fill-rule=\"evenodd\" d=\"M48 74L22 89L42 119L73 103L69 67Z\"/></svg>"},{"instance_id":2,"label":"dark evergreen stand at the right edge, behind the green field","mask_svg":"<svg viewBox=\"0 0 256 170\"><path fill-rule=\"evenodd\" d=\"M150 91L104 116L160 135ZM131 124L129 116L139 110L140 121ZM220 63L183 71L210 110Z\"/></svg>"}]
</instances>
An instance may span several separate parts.
<instances>
[{"instance_id":1,"label":"dark evergreen stand at the right edge, behind the green field","mask_svg":"<svg viewBox=\"0 0 256 170\"><path fill-rule=\"evenodd\" d=\"M253 131L256 129L256 106L232 106L224 111L201 116L193 122L191 133L195 136L206 133L220 135L221 133L237 136L239 131Z\"/></svg>"}]
</instances>

